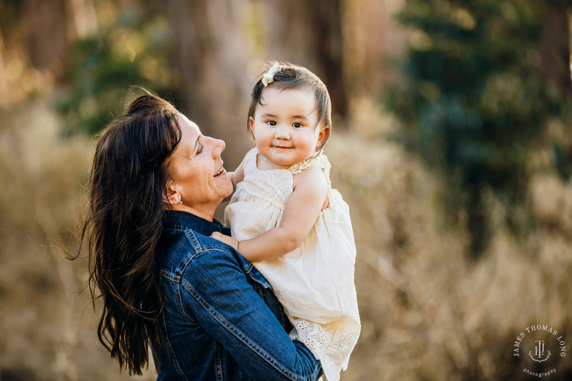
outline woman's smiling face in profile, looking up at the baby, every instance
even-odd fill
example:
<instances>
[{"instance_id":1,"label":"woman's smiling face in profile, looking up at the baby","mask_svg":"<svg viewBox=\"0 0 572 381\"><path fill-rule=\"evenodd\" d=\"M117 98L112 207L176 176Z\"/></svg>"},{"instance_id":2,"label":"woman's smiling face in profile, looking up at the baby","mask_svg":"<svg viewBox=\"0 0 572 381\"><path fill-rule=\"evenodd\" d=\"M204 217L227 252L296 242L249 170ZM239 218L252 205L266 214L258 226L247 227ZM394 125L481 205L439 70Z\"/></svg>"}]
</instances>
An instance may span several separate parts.
<instances>
[{"instance_id":1,"label":"woman's smiling face in profile, looking up at the baby","mask_svg":"<svg viewBox=\"0 0 572 381\"><path fill-rule=\"evenodd\" d=\"M202 135L197 125L182 114L178 122L182 135L170 163L174 184L168 187L169 201L174 209L210 210L232 193L220 157L224 141Z\"/></svg>"}]
</instances>

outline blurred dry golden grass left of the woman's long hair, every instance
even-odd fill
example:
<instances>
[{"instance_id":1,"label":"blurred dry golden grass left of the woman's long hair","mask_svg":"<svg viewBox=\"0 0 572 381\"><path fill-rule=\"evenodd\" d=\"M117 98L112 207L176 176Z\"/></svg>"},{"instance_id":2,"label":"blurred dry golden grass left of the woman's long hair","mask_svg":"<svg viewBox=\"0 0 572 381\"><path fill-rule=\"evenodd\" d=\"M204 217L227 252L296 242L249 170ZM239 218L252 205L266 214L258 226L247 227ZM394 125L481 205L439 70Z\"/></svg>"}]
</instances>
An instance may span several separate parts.
<instances>
[{"instance_id":1,"label":"blurred dry golden grass left of the woman's long hair","mask_svg":"<svg viewBox=\"0 0 572 381\"><path fill-rule=\"evenodd\" d=\"M75 246L67 228L77 218L93 149L88 137L59 137L60 126L42 102L2 114L1 379L128 379L96 343L93 312L81 314L89 301L78 293L85 263L51 248L62 239Z\"/></svg>"}]
</instances>

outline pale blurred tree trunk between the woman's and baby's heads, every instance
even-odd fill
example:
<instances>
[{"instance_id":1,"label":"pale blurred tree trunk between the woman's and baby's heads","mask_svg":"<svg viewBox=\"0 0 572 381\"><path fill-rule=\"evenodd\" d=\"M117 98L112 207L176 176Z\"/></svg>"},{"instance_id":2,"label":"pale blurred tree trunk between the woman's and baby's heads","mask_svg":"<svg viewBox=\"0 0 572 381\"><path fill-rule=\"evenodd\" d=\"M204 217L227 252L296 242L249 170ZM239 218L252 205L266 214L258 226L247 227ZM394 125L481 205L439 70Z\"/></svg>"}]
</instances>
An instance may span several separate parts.
<instances>
[{"instance_id":1,"label":"pale blurred tree trunk between the woman's and baby's heads","mask_svg":"<svg viewBox=\"0 0 572 381\"><path fill-rule=\"evenodd\" d=\"M250 145L244 104L248 46L240 29L244 0L169 0L175 34L173 65L180 72L182 108L202 133L227 145L223 158L233 170ZM231 69L229 69L231 68Z\"/></svg>"}]
</instances>

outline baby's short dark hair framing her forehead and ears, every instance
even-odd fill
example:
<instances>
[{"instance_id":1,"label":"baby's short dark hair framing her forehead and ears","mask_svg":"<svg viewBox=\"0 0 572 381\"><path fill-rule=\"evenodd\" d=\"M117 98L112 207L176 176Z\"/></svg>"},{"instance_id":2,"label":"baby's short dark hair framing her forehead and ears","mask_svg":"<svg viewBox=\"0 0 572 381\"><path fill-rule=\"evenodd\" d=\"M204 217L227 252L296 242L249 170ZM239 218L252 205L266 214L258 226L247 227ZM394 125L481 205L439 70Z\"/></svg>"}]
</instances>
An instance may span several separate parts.
<instances>
[{"instance_id":1,"label":"baby's short dark hair framing her forehead and ears","mask_svg":"<svg viewBox=\"0 0 572 381\"><path fill-rule=\"evenodd\" d=\"M273 64L274 62L267 62L265 65L267 70L264 73L268 72L268 69L271 68ZM272 88L279 90L300 89L307 87L314 91L315 112L318 116L317 124L314 126L314 128L323 123L324 126L329 130L328 136L325 138L324 142L316 148L316 152L320 152L324 147L325 142L328 141L329 135L332 132L332 101L329 98L328 89L325 87L324 82L322 82L320 78L316 76L316 74L312 73L303 66L292 65L289 62L279 62L279 65L279 72L274 74L273 81L268 84L268 86L272 86ZM263 105L262 92L264 89L265 87L261 77L252 89L251 104L250 108L248 109L249 119L250 117L254 117L256 107L258 105ZM248 120L247 133L251 140L255 141L254 134L252 133L250 122Z\"/></svg>"}]
</instances>

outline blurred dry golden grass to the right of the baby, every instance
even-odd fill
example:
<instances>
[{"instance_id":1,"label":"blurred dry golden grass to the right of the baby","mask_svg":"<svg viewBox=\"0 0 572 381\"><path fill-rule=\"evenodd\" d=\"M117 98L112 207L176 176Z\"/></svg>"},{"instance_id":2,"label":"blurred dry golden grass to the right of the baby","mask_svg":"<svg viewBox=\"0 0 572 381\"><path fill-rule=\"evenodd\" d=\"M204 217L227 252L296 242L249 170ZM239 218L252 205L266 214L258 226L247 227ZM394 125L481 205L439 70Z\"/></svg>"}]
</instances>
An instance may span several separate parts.
<instances>
[{"instance_id":1,"label":"blurred dry golden grass to the right of the baby","mask_svg":"<svg viewBox=\"0 0 572 381\"><path fill-rule=\"evenodd\" d=\"M362 335L342 379L529 379L524 368L539 371L527 355L535 344L515 358L518 333L533 324L565 339L571 332L572 184L550 172L533 175L537 228L518 241L486 193L495 231L483 257L469 260L466 230L444 218L438 177L374 133L391 132L390 117L369 115L367 129L336 133L325 149L358 247ZM555 339L550 347L559 352ZM557 368L551 379L571 379L572 364L557 356L543 369Z\"/></svg>"}]
</instances>

